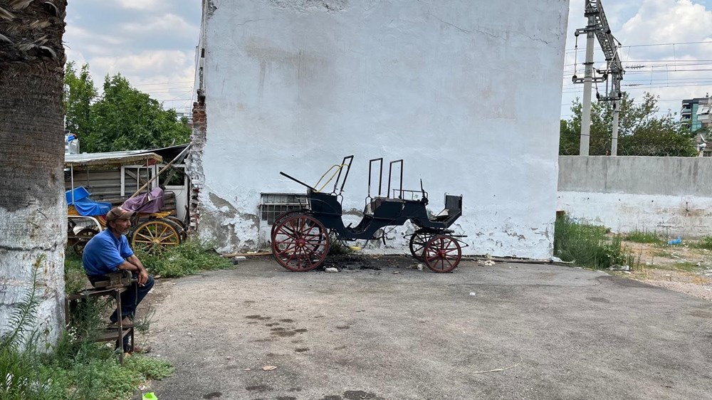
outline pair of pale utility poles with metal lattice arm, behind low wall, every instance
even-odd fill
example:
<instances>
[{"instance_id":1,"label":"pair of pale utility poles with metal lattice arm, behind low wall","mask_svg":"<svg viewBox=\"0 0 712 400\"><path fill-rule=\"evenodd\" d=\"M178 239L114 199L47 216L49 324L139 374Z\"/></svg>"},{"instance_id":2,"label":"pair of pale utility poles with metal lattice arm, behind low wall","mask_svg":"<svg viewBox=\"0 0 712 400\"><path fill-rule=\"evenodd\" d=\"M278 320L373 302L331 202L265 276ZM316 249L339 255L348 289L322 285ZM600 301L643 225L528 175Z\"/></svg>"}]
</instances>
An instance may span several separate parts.
<instances>
[{"instance_id":1,"label":"pair of pale utility poles with metal lattice arm, behind low wall","mask_svg":"<svg viewBox=\"0 0 712 400\"><path fill-rule=\"evenodd\" d=\"M588 18L588 25L585 28L577 29L574 33L579 36L586 33L586 61L584 78L578 78L576 75L572 77L573 83L583 83L583 104L581 110L581 144L579 154L587 156L589 154L589 144L591 137L591 86L593 83L607 82L608 76L612 75L612 82L606 85L606 94L601 96L596 93L596 97L601 101L613 102L613 132L611 140L611 155L615 156L618 152L618 116L620 108L620 99L622 93L620 90L620 81L623 80L623 66L618 56L618 49L615 45L616 39L611 34L611 28L608 26L606 13L603 11L601 0L585 0L586 8L584 16ZM593 76L593 38L598 38L598 43L606 57L607 68L602 76Z\"/></svg>"}]
</instances>

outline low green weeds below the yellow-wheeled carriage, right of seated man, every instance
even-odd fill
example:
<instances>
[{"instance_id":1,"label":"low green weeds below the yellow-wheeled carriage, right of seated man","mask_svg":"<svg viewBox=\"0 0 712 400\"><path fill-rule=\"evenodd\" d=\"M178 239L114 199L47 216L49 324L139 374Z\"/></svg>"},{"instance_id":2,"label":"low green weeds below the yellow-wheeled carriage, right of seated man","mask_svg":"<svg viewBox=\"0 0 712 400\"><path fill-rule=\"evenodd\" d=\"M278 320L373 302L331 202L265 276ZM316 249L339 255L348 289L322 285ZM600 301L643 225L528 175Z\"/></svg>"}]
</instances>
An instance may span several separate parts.
<instances>
[{"instance_id":1,"label":"low green weeds below the yellow-wheeled carriage, right of seated man","mask_svg":"<svg viewBox=\"0 0 712 400\"><path fill-rule=\"evenodd\" d=\"M164 278L179 278L201 270L229 269L235 266L232 260L216 253L210 243L197 239L189 239L159 254L137 253L137 256L152 275Z\"/></svg>"}]
</instances>

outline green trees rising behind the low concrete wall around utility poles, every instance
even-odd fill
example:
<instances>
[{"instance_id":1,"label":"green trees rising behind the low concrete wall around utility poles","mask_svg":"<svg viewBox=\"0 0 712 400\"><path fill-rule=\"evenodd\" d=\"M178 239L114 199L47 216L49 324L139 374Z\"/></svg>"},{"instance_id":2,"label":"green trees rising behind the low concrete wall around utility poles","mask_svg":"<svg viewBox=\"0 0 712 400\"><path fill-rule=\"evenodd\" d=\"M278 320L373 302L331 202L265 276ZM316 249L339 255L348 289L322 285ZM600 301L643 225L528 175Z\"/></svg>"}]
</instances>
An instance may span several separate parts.
<instances>
[{"instance_id":1,"label":"green trees rising behind the low concrete wall around utility poles","mask_svg":"<svg viewBox=\"0 0 712 400\"><path fill-rule=\"evenodd\" d=\"M578 154L581 132L581 102L571 107L570 120L562 120L559 154ZM618 155L694 157L697 154L693 138L668 113L657 117L658 98L650 93L642 102L635 102L628 93L620 101L618 124ZM591 107L591 155L610 154L613 130L613 102L594 102Z\"/></svg>"}]
</instances>

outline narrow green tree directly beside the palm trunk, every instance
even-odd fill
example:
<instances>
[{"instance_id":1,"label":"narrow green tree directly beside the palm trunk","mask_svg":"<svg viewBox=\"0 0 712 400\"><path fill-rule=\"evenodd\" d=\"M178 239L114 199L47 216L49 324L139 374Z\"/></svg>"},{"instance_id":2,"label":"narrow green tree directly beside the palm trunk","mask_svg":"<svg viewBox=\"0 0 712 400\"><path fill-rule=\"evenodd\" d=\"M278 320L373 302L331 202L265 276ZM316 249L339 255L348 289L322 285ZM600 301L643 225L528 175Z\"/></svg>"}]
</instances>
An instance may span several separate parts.
<instances>
[{"instance_id":1,"label":"narrow green tree directly beside the palm trunk","mask_svg":"<svg viewBox=\"0 0 712 400\"><path fill-rule=\"evenodd\" d=\"M81 70L75 68L74 61L67 63L64 71L64 112L65 129L78 135L91 132L91 105L96 99L97 90L89 74L89 64L83 64Z\"/></svg>"}]
</instances>

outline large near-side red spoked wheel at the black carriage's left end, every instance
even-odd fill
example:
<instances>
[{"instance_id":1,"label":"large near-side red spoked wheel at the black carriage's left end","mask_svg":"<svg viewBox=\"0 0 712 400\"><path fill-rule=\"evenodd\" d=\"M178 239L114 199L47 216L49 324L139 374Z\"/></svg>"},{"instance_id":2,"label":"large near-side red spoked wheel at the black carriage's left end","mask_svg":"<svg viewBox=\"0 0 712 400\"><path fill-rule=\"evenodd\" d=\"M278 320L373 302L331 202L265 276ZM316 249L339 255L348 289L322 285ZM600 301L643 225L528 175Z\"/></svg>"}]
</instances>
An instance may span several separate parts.
<instances>
[{"instance_id":1,"label":"large near-side red spoked wheel at the black carriage's left end","mask_svg":"<svg viewBox=\"0 0 712 400\"><path fill-rule=\"evenodd\" d=\"M272 235L272 254L288 270L313 270L329 252L326 228L308 215L290 216L277 224Z\"/></svg>"}]
</instances>

